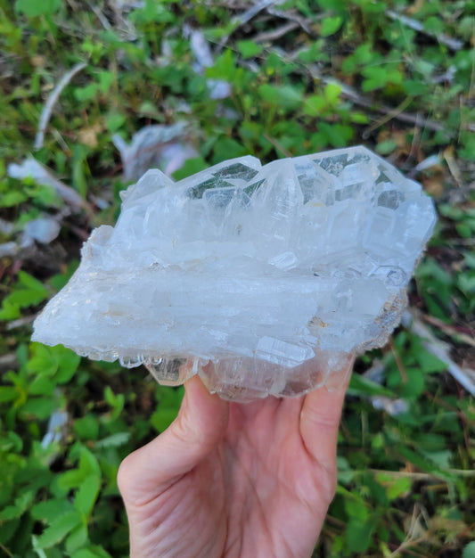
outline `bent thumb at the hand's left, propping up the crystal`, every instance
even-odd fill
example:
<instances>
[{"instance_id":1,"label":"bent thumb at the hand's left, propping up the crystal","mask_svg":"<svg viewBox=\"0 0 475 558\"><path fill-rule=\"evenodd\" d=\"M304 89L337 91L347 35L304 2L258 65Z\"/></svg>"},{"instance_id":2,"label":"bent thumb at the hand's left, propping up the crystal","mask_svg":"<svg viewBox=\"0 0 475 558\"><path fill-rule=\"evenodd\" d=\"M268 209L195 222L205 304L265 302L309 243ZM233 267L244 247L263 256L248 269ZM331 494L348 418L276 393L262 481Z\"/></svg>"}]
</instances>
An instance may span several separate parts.
<instances>
[{"instance_id":1,"label":"bent thumb at the hand's left, propping up the crystal","mask_svg":"<svg viewBox=\"0 0 475 558\"><path fill-rule=\"evenodd\" d=\"M198 376L186 382L184 400L168 429L120 464L119 490L135 505L150 501L209 455L224 437L228 404L211 395Z\"/></svg>"}]
</instances>

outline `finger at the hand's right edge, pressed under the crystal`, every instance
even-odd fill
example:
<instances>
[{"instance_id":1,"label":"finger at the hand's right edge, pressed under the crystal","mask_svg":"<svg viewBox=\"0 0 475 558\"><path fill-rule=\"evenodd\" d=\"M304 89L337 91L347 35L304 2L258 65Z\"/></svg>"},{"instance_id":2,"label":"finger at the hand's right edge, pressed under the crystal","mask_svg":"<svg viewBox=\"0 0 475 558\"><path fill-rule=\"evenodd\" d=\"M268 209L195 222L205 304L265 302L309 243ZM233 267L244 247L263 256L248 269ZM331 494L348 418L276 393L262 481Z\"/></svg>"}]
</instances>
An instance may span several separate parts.
<instances>
[{"instance_id":1,"label":"finger at the hand's right edge, pressed under the crystal","mask_svg":"<svg viewBox=\"0 0 475 558\"><path fill-rule=\"evenodd\" d=\"M348 359L346 373L353 366L353 357ZM307 451L327 471L336 466L336 448L340 426L341 409L348 388L347 381L333 391L326 388L311 391L304 400L300 413L300 434Z\"/></svg>"}]
</instances>

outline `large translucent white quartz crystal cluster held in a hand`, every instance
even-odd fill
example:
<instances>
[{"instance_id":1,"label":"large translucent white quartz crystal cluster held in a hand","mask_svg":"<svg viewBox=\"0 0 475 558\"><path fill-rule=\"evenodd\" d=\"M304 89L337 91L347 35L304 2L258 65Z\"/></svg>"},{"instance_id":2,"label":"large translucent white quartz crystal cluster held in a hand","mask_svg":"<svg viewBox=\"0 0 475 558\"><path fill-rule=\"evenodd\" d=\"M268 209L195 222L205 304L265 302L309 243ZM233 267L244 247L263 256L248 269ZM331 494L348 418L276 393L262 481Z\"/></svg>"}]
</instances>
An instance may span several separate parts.
<instances>
[{"instance_id":1,"label":"large translucent white quartz crystal cluster held in a hand","mask_svg":"<svg viewBox=\"0 0 475 558\"><path fill-rule=\"evenodd\" d=\"M149 170L33 339L169 385L199 373L223 398L300 395L387 341L435 221L421 185L364 147L177 183Z\"/></svg>"}]
</instances>

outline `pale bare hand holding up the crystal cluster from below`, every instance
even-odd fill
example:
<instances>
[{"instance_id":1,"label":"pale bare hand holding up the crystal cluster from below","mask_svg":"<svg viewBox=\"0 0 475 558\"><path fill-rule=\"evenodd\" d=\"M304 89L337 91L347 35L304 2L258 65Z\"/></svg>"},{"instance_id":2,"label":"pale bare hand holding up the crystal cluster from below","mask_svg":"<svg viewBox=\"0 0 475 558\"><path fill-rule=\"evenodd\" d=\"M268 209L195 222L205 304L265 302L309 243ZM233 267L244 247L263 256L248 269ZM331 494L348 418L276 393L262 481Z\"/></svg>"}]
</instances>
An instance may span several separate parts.
<instances>
[{"instance_id":1,"label":"pale bare hand holding up the crystal cluster from below","mask_svg":"<svg viewBox=\"0 0 475 558\"><path fill-rule=\"evenodd\" d=\"M131 557L311 556L345 390L239 404L186 382L174 423L119 468Z\"/></svg>"}]
</instances>

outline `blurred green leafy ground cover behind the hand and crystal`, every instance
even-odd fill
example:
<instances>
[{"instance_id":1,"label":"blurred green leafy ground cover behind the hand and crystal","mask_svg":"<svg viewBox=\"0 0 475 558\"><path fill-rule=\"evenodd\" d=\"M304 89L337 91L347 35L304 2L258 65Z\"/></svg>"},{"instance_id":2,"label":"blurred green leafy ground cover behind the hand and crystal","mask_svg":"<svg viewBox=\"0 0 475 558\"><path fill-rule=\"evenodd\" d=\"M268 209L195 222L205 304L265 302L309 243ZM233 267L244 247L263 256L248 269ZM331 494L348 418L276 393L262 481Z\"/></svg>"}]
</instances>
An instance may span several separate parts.
<instances>
[{"instance_id":1,"label":"blurred green leafy ground cover behind the hand and crystal","mask_svg":"<svg viewBox=\"0 0 475 558\"><path fill-rule=\"evenodd\" d=\"M267 162L366 144L388 157L422 182L440 214L411 308L456 364L475 368L475 2L299 0L243 25L242 9L225 3L147 0L123 14L112 4L0 0L0 224L11 225L0 227L0 244L20 244L37 217L61 222L50 244L0 258L4 556L126 556L120 460L167 427L182 396L143 369L29 342L32 319L74 271L91 227L117 217L127 184L113 134L128 141L144 125L185 120L200 156L180 176L245 153ZM203 74L186 26L213 48ZM33 152L47 95L78 62L86 67ZM210 100L209 78L225 79L232 95ZM32 152L88 210L7 176ZM375 359L382 385L361 375ZM373 406L388 395L403 413ZM62 438L43 447L58 410L68 413ZM401 327L360 357L340 429L339 488L315 556L474 556L474 425L473 397L413 332Z\"/></svg>"}]
</instances>

